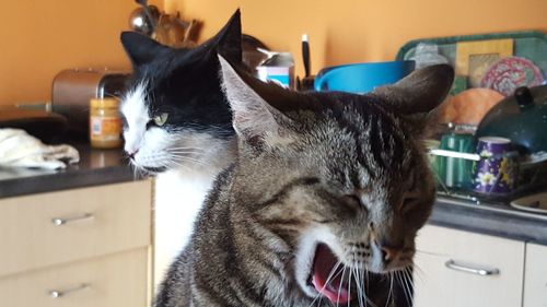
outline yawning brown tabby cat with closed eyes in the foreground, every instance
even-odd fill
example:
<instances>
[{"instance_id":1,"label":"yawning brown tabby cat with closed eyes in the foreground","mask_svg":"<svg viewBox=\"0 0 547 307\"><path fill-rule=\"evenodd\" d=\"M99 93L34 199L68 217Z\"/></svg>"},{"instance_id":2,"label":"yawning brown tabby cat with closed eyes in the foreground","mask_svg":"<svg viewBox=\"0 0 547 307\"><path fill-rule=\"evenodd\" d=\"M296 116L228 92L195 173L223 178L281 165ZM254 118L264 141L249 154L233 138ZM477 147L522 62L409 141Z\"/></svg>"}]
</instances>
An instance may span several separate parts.
<instances>
[{"instance_id":1,"label":"yawning brown tabby cat with closed eyes in the foreground","mask_svg":"<svg viewBox=\"0 0 547 307\"><path fill-rule=\"evenodd\" d=\"M452 68L354 95L290 92L220 61L236 162L155 306L410 305L415 237L434 200L421 140Z\"/></svg>"}]
</instances>

